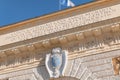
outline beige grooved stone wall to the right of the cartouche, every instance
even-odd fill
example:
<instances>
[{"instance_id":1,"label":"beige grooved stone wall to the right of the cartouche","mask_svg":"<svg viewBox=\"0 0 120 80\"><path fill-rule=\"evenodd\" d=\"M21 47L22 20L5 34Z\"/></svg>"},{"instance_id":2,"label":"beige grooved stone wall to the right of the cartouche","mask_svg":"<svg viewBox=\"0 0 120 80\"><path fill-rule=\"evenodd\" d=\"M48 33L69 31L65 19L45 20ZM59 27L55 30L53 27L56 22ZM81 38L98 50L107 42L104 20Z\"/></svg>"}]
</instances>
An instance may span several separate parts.
<instances>
[{"instance_id":1,"label":"beige grooved stone wall to the right of the cartouche","mask_svg":"<svg viewBox=\"0 0 120 80\"><path fill-rule=\"evenodd\" d=\"M120 56L120 50L70 60L65 75L80 80L119 80L112 65L112 58L117 56Z\"/></svg>"}]
</instances>

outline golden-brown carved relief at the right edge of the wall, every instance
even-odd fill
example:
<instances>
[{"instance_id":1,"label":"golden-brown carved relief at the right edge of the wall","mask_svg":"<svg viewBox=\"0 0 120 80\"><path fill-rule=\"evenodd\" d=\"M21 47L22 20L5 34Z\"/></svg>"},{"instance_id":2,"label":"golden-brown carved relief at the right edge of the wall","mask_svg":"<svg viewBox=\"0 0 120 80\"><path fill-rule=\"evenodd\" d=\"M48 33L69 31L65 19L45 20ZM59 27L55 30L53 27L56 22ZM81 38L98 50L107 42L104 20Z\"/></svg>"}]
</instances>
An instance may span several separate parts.
<instances>
[{"instance_id":1,"label":"golden-brown carved relief at the right edge of the wall","mask_svg":"<svg viewBox=\"0 0 120 80\"><path fill-rule=\"evenodd\" d=\"M119 75L120 74L120 57L113 58L112 61L113 61L114 74Z\"/></svg>"}]
</instances>

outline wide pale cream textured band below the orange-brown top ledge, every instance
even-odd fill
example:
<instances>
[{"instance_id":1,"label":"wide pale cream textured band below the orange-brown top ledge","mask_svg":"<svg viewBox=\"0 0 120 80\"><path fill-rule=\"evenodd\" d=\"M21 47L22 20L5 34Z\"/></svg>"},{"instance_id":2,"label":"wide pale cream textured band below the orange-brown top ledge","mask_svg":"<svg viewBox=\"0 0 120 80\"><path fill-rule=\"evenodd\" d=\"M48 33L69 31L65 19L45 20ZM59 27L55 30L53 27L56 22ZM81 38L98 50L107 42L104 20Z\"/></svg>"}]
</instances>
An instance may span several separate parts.
<instances>
[{"instance_id":1,"label":"wide pale cream textured band below the orange-brown top ledge","mask_svg":"<svg viewBox=\"0 0 120 80\"><path fill-rule=\"evenodd\" d=\"M120 4L4 34L0 36L0 46L120 17L119 9Z\"/></svg>"}]
</instances>

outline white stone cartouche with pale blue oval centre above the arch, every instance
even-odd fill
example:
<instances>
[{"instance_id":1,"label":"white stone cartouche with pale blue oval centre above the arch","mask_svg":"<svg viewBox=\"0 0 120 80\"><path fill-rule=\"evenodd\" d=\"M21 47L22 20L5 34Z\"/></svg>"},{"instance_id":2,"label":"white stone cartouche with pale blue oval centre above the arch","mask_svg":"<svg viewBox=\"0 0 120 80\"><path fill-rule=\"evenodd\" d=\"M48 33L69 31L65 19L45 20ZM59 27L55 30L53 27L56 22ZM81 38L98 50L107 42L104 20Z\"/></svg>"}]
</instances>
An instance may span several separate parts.
<instances>
[{"instance_id":1,"label":"white stone cartouche with pale blue oval centre above the arch","mask_svg":"<svg viewBox=\"0 0 120 80\"><path fill-rule=\"evenodd\" d=\"M66 50L61 48L53 48L50 54L46 55L45 65L50 78L58 78L64 75L67 66Z\"/></svg>"}]
</instances>

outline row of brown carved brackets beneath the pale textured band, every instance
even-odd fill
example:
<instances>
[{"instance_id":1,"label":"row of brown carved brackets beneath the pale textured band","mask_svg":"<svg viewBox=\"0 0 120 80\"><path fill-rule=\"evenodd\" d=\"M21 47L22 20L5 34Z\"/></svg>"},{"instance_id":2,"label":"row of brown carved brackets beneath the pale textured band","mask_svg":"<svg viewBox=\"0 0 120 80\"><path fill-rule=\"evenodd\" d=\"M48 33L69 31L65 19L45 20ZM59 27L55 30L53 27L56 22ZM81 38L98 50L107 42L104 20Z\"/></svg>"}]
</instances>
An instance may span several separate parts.
<instances>
[{"instance_id":1,"label":"row of brown carved brackets beneath the pale textured band","mask_svg":"<svg viewBox=\"0 0 120 80\"><path fill-rule=\"evenodd\" d=\"M103 39L104 41L109 41L109 38L117 38L119 37L119 31L120 31L120 26L119 23L115 24L110 24L107 26L101 26L97 28L91 28L88 30L84 31L79 31L75 33L70 33L70 34L65 34L63 36L58 36L58 37L53 37L50 39L38 41L38 42L32 42L30 44L25 44L25 45L20 45L16 47L12 47L9 49L4 49L0 51L1 57L7 57L9 55L15 55L19 53L26 53L28 52L34 52L37 49L45 50L54 47L56 44L57 45L63 45L63 44L68 44L69 42L73 41L82 41L84 42L89 42L89 41L97 41L97 38ZM114 35L114 36L113 36ZM106 39L106 40L104 40ZM115 40L115 42L111 43L112 44L118 44L118 40ZM90 43L89 43L90 44Z\"/></svg>"}]
</instances>

